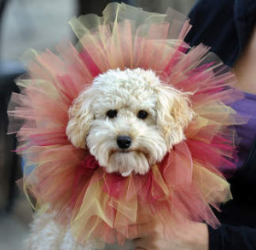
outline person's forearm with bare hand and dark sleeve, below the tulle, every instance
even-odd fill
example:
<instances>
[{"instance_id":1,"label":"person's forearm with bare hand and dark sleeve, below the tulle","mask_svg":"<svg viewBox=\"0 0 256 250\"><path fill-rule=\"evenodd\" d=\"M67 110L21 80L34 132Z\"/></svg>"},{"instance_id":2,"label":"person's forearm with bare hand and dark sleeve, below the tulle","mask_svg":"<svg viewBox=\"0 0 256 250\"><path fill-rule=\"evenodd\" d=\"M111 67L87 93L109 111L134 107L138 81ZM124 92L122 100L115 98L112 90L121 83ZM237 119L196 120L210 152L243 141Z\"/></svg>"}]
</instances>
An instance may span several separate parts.
<instances>
[{"instance_id":1,"label":"person's forearm with bare hand and dark sleeve, below the tulle","mask_svg":"<svg viewBox=\"0 0 256 250\"><path fill-rule=\"evenodd\" d=\"M144 224L139 226L139 230L139 237L133 240L137 250L256 249L256 230L244 226L222 224L213 230L207 224L190 223L178 228L169 239L161 234L160 228L156 225Z\"/></svg>"}]
</instances>

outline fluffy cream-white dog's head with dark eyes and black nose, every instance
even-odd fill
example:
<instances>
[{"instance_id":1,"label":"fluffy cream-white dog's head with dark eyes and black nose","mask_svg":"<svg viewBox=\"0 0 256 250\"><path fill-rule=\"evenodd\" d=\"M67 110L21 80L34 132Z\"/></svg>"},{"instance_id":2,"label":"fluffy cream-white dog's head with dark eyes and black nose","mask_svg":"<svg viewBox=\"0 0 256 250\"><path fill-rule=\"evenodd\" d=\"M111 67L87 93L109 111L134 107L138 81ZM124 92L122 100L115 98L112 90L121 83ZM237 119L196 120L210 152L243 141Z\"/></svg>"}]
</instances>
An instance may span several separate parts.
<instances>
[{"instance_id":1,"label":"fluffy cream-white dog's head with dark eyes and black nose","mask_svg":"<svg viewBox=\"0 0 256 250\"><path fill-rule=\"evenodd\" d=\"M185 94L149 70L109 70L69 110L67 137L88 148L106 172L145 174L183 141L193 118Z\"/></svg>"}]
</instances>

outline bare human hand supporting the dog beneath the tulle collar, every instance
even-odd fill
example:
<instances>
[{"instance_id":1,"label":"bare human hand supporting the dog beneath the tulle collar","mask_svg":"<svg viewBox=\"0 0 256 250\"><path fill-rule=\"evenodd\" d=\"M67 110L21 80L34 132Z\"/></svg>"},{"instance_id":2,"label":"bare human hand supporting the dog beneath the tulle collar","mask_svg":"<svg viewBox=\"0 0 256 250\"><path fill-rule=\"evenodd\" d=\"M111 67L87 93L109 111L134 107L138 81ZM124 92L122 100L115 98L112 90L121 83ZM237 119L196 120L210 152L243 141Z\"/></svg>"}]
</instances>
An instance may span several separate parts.
<instances>
[{"instance_id":1,"label":"bare human hand supporting the dog beneath the tulle collar","mask_svg":"<svg viewBox=\"0 0 256 250\"><path fill-rule=\"evenodd\" d=\"M207 224L177 225L172 238L168 239L160 224L140 224L137 231L138 237L133 240L136 250L208 250Z\"/></svg>"}]
</instances>

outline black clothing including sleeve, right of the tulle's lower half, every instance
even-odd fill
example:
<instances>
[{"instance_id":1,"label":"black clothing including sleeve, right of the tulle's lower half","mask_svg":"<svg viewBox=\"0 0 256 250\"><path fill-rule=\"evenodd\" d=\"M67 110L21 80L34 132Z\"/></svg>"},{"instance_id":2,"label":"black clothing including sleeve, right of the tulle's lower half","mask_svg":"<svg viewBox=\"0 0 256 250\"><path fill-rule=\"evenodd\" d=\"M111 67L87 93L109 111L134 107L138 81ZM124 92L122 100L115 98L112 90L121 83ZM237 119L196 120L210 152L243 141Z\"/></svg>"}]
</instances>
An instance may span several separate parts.
<instances>
[{"instance_id":1,"label":"black clothing including sleeve, right of the tulle's lower half","mask_svg":"<svg viewBox=\"0 0 256 250\"><path fill-rule=\"evenodd\" d=\"M230 179L233 200L217 213L222 223L218 230L209 228L210 250L256 249L256 139L247 161Z\"/></svg>"}]
</instances>

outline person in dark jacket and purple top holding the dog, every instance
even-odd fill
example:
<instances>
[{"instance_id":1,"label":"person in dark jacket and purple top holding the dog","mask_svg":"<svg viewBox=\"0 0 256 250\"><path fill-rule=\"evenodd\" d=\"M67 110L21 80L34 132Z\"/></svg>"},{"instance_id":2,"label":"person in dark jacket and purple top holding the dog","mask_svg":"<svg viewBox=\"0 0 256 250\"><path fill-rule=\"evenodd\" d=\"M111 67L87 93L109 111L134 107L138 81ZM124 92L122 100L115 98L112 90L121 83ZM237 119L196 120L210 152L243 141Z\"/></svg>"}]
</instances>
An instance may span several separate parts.
<instances>
[{"instance_id":1,"label":"person in dark jacket and purple top holding the dog","mask_svg":"<svg viewBox=\"0 0 256 250\"><path fill-rule=\"evenodd\" d=\"M234 67L236 88L244 99L233 108L249 117L238 125L240 142L237 171L230 178L233 200L216 212L221 226L188 223L173 239L160 237L157 223L142 224L136 249L255 249L256 248L256 2L253 0L199 0L189 14L192 29L186 37L191 45L211 47L224 64ZM150 229L150 230L148 230ZM146 232L146 233L145 233Z\"/></svg>"}]
</instances>

